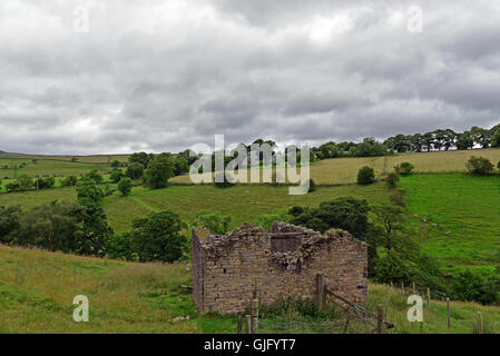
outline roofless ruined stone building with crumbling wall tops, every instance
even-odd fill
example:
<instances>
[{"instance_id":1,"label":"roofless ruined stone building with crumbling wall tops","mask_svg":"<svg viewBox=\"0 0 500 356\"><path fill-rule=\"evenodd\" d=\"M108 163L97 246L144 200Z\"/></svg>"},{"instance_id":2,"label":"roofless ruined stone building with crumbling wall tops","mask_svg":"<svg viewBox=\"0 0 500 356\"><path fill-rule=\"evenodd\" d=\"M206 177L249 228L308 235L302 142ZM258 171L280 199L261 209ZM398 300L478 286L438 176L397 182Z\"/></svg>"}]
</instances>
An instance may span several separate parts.
<instances>
[{"instance_id":1,"label":"roofless ruined stone building with crumbling wall tops","mask_svg":"<svg viewBox=\"0 0 500 356\"><path fill-rule=\"evenodd\" d=\"M193 230L193 296L199 313L244 312L254 296L313 299L316 275L345 298L367 295L366 244L347 231L317 231L275 221L271 234L249 224L226 235Z\"/></svg>"}]
</instances>

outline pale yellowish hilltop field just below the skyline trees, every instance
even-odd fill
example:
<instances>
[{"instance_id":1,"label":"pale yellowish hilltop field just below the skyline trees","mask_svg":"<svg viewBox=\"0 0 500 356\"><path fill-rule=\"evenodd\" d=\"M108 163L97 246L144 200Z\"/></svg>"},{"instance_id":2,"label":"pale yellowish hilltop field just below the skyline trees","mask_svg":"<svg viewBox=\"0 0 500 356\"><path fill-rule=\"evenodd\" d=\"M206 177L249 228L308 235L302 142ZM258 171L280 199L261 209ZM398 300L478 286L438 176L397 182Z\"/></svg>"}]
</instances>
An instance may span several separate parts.
<instances>
[{"instance_id":1,"label":"pale yellowish hilltop field just below the skyline trees","mask_svg":"<svg viewBox=\"0 0 500 356\"><path fill-rule=\"evenodd\" d=\"M404 154L373 158L332 158L311 165L311 178L318 185L340 185L356 181L357 171L363 166L370 166L378 177L394 170L394 166L404 161L412 162L418 172L451 172L464 171L470 156L489 158L494 166L500 160L500 149L476 149L467 151L432 151L421 154ZM300 169L298 169L300 171ZM190 184L189 176L179 176L173 182Z\"/></svg>"}]
</instances>

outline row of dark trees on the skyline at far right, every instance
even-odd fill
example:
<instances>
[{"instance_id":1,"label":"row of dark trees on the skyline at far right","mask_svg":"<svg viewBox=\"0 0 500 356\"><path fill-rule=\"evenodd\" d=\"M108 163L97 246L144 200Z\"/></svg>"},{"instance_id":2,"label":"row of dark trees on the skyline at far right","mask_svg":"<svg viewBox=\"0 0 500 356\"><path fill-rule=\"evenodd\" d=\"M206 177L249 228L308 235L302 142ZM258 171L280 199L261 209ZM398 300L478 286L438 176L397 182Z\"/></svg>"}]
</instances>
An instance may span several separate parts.
<instances>
[{"instance_id":1,"label":"row of dark trees on the skyline at far right","mask_svg":"<svg viewBox=\"0 0 500 356\"><path fill-rule=\"evenodd\" d=\"M430 150L472 149L500 147L500 125L490 129L472 127L463 132L439 129L427 134L396 135L388 138L384 145L398 152L422 152Z\"/></svg>"}]
</instances>

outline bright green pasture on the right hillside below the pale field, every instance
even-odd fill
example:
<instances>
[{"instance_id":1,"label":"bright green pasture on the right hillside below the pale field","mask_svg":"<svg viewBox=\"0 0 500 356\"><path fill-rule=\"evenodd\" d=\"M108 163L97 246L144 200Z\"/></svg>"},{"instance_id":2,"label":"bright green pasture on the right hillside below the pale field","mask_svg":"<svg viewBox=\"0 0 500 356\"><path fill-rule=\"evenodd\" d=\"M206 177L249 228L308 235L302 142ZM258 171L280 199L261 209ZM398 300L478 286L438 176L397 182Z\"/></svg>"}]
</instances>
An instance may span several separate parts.
<instances>
[{"instance_id":1,"label":"bright green pasture on the right hillside below the pale field","mask_svg":"<svg viewBox=\"0 0 500 356\"><path fill-rule=\"evenodd\" d=\"M500 177L412 175L400 186L414 224L429 230L420 240L425 253L450 269L499 263Z\"/></svg>"}]
</instances>

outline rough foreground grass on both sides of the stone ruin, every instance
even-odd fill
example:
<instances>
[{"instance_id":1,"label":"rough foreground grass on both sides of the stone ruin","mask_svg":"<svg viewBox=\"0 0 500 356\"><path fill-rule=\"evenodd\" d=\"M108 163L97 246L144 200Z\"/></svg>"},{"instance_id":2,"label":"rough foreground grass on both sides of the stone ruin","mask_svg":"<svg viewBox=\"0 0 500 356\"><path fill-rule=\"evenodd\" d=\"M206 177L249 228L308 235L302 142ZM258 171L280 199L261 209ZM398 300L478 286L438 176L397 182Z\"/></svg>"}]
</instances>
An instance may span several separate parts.
<instances>
[{"instance_id":1,"label":"rough foreground grass on both sides of the stone ruin","mask_svg":"<svg viewBox=\"0 0 500 356\"><path fill-rule=\"evenodd\" d=\"M190 285L188 268L186 263L133 264L0 246L0 333L234 333L235 317L196 313L180 287ZM76 295L89 299L89 323L72 320ZM386 306L388 320L396 325L391 333L470 334L479 310L486 332L500 332L500 308L467 303L451 303L451 329L440 301L424 310L423 323L410 324L405 298L371 284L366 307Z\"/></svg>"}]
</instances>

